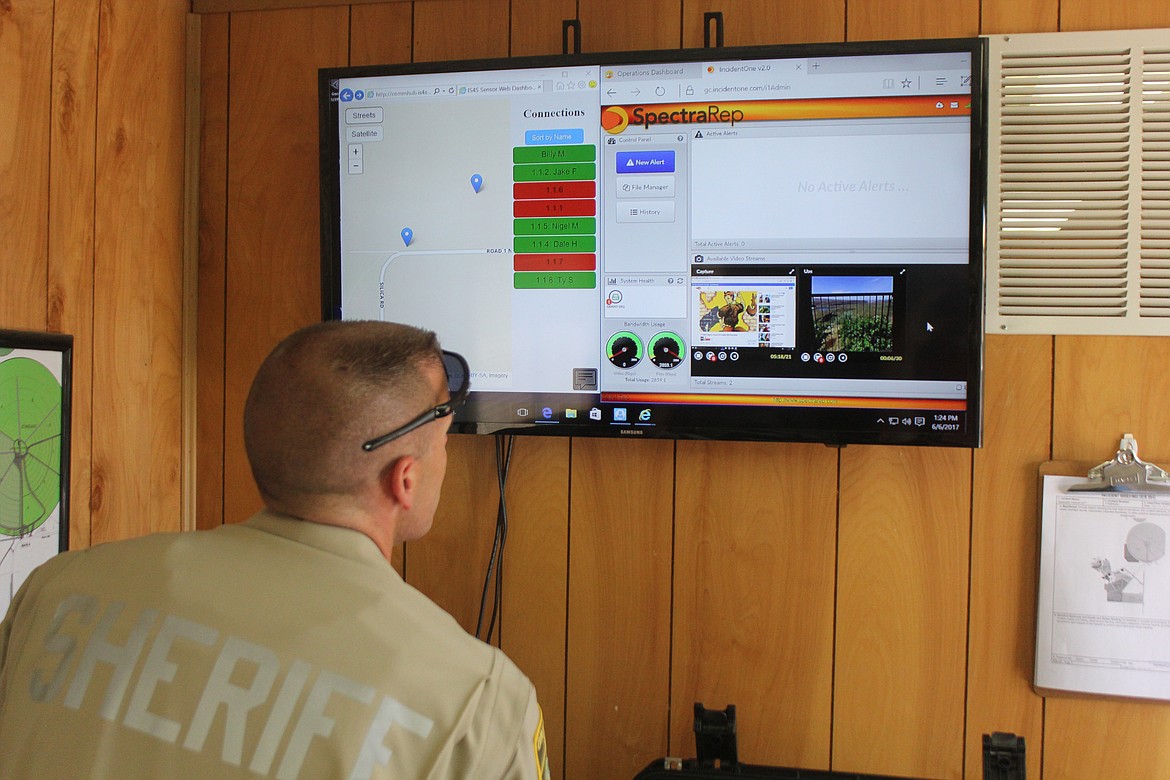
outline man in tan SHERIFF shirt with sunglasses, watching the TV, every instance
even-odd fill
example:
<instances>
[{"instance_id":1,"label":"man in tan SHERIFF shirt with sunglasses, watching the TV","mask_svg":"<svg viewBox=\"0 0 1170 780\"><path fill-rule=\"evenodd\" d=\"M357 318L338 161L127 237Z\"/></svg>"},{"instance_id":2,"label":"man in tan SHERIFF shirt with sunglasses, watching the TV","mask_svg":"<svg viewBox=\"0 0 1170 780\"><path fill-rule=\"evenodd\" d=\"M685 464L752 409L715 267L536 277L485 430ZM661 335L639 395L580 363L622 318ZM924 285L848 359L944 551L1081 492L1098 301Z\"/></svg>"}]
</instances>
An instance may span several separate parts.
<instances>
[{"instance_id":1,"label":"man in tan SHERIFF shirt with sunglasses, watching the TV","mask_svg":"<svg viewBox=\"0 0 1170 780\"><path fill-rule=\"evenodd\" d=\"M532 684L390 565L467 387L402 325L278 345L245 409L262 512L63 553L16 594L0 778L548 778Z\"/></svg>"}]
</instances>

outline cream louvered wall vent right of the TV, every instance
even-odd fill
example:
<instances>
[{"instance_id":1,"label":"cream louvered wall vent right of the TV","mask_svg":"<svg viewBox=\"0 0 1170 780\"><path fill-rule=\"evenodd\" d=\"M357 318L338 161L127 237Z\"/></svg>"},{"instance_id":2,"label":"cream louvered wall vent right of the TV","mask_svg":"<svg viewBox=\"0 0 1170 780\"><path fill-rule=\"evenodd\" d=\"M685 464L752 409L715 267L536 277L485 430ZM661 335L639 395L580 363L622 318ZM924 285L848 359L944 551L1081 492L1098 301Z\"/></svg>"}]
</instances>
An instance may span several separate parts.
<instances>
[{"instance_id":1,"label":"cream louvered wall vent right of the TV","mask_svg":"<svg viewBox=\"0 0 1170 780\"><path fill-rule=\"evenodd\" d=\"M987 331L1170 334L1170 29L989 49Z\"/></svg>"}]
</instances>

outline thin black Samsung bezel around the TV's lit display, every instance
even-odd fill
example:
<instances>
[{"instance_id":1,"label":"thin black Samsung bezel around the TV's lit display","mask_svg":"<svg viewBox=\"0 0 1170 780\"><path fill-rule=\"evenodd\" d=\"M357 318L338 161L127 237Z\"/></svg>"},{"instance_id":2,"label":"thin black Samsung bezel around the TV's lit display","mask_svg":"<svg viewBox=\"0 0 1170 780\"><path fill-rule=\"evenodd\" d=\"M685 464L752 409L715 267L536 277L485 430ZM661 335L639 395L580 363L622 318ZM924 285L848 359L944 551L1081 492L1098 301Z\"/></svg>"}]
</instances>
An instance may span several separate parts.
<instances>
[{"instance_id":1,"label":"thin black Samsung bezel around the TV's lit display","mask_svg":"<svg viewBox=\"0 0 1170 780\"><path fill-rule=\"evenodd\" d=\"M695 62L704 60L753 60L792 57L866 56L883 54L940 54L968 53L971 55L971 163L970 163L970 262L968 263L968 296L965 318L968 333L968 399L965 426L959 432L935 432L929 427L918 430L906 426L890 426L876 430L852 428L820 428L810 422L797 426L768 426L759 423L764 409L750 407L750 415L757 421L743 421L739 409L725 405L696 405L696 412L708 412L720 419L718 423L698 424L672 423L669 427L613 427L592 423L542 424L536 421L476 421L461 419L455 414L450 430L466 434L519 434L553 436L599 436L669 440L711 441L775 441L811 442L830 446L845 444L894 444L927 447L978 448L983 446L983 384L984 384L984 287L986 243L986 172L987 172L987 42L985 37L915 39L860 42L792 43L750 47L718 47L702 49L647 49L632 51L605 51L569 55L539 55L521 57L496 57L480 60L449 60L440 62L413 62L398 64L349 65L322 68L318 71L318 132L319 132L319 194L321 194L321 292L322 318L339 319L340 301L340 192L338 161L340 159L337 134L338 106L332 84L338 78L371 76L398 76L412 74L441 74L475 70L509 70L523 68L549 68L599 64L641 64L655 62ZM490 394L489 394L490 395ZM626 406L626 403L603 402L601 393L593 393L593 403L601 408ZM475 391L473 388L473 396ZM779 416L808 416L817 409L783 407L772 409ZM835 409L834 417L842 414L865 413L868 409ZM466 414L466 413L464 413ZM702 415L706 416L706 415Z\"/></svg>"}]
</instances>

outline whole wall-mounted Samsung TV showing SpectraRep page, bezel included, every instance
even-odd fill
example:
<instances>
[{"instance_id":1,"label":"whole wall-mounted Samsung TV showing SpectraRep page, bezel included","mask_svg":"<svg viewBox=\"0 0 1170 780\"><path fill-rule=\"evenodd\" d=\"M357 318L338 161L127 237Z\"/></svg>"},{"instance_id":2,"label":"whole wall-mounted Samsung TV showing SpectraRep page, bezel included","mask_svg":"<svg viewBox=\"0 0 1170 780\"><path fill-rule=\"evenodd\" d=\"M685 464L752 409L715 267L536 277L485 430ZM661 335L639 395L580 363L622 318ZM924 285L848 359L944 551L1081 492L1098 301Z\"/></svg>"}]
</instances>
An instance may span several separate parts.
<instances>
[{"instance_id":1,"label":"whole wall-mounted Samsung TV showing SpectraRep page, bezel included","mask_svg":"<svg viewBox=\"0 0 1170 780\"><path fill-rule=\"evenodd\" d=\"M463 433L977 447L979 39L319 75L324 317Z\"/></svg>"}]
</instances>

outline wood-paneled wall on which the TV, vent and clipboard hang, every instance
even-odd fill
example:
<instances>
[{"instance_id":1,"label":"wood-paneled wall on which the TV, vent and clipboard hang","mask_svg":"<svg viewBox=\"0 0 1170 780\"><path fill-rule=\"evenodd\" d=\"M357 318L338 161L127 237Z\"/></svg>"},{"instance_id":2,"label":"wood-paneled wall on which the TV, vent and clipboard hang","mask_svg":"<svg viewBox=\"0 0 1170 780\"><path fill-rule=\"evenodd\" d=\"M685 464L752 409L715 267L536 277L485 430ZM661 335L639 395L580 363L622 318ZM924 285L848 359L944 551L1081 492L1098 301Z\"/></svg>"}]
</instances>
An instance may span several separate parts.
<instances>
[{"instance_id":1,"label":"wood-paneled wall on which the TV, vent and clipboard hang","mask_svg":"<svg viewBox=\"0 0 1170 780\"><path fill-rule=\"evenodd\" d=\"M200 453L201 517L259 505L243 393L275 339L318 316L314 68L556 53L571 18L585 50L698 46L708 11L724 13L728 44L1170 26L1152 0L414 0L206 15L205 90L230 101L205 115L205 175L226 180L227 202L206 203L205 229L226 237L204 249L219 268L201 295L222 313L200 334L228 337L226 368L204 386L223 399L226 444ZM208 226L216 215L226 227ZM1152 368L1166 352L1164 339L989 337L976 451L515 440L501 644L537 685L556 775L618 780L693 754L694 702L736 704L739 755L759 764L979 778L982 736L1011 731L1033 778L1170 773L1170 706L1031 688L1037 468L1101 460L1124 432L1148 456L1170 454L1170 380L1116 381L1116 366ZM473 628L494 442L454 436L450 450L434 531L399 564ZM216 456L222 483L204 469ZM725 496L730 517L713 511Z\"/></svg>"}]
</instances>

